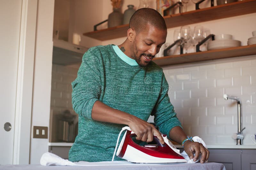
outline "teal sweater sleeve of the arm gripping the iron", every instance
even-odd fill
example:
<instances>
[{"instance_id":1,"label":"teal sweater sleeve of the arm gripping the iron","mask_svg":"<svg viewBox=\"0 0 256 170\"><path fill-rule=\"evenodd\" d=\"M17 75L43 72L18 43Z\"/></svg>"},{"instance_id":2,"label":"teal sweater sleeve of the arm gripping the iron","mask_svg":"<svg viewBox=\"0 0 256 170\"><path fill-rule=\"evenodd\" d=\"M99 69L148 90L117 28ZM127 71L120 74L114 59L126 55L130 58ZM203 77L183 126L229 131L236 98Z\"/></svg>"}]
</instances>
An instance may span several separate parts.
<instances>
[{"instance_id":1,"label":"teal sweater sleeve of the arm gripping the iron","mask_svg":"<svg viewBox=\"0 0 256 170\"><path fill-rule=\"evenodd\" d=\"M72 85L72 105L78 115L92 119L92 107L100 98L100 53L90 48L84 53L77 78Z\"/></svg>"}]
</instances>

